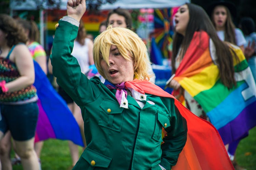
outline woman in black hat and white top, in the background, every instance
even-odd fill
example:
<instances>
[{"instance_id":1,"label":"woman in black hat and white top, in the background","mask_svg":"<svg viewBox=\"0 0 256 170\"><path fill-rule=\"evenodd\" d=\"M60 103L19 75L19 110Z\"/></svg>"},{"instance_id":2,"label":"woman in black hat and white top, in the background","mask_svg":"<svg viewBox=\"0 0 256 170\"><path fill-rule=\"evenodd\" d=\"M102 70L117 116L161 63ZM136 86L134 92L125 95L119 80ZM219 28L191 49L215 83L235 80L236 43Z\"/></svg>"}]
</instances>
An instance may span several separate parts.
<instances>
[{"instance_id":1,"label":"woman in black hat and white top, in the background","mask_svg":"<svg viewBox=\"0 0 256 170\"><path fill-rule=\"evenodd\" d=\"M236 17L236 6L231 2L214 1L208 7L208 14L217 31L218 37L222 41L228 41L241 48L244 52L246 40L240 29L235 28L232 16Z\"/></svg>"}]
</instances>

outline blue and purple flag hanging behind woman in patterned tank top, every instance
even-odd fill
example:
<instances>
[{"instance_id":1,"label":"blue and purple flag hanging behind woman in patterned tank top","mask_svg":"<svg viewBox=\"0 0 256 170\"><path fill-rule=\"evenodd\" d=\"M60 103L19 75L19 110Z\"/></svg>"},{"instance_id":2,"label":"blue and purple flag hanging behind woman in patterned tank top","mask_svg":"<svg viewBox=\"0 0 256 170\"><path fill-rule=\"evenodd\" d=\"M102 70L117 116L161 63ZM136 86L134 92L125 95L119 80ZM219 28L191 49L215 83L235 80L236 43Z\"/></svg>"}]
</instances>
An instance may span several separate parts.
<instances>
[{"instance_id":1,"label":"blue and purple flag hanging behind woman in patterned tank top","mask_svg":"<svg viewBox=\"0 0 256 170\"><path fill-rule=\"evenodd\" d=\"M45 73L34 61L39 117L35 132L35 142L49 138L71 140L84 146L80 128L66 102L52 87Z\"/></svg>"}]
</instances>

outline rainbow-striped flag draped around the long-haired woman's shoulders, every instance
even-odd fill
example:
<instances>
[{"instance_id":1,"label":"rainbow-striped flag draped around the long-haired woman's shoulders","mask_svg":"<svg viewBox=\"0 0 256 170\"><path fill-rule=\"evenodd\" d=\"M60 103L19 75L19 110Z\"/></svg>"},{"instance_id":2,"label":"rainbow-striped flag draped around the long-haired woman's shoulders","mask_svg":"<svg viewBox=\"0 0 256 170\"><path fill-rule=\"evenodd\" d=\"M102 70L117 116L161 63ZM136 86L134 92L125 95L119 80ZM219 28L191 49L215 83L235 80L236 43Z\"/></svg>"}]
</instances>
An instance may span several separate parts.
<instances>
[{"instance_id":1,"label":"rainbow-striped flag draped around the long-haired woman's shoulders","mask_svg":"<svg viewBox=\"0 0 256 170\"><path fill-rule=\"evenodd\" d=\"M206 32L196 32L174 80L202 106L224 144L241 139L256 125L256 85L243 52L234 60L237 86L228 89L219 77L215 46Z\"/></svg>"}]
</instances>

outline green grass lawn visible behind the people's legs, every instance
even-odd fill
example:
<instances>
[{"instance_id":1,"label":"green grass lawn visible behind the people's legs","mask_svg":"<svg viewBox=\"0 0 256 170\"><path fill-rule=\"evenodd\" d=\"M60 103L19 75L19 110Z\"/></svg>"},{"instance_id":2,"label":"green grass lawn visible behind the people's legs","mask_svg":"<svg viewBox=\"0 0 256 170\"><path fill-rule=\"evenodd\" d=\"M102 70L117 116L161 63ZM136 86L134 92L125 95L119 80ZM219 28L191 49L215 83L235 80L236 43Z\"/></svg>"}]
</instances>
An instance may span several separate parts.
<instances>
[{"instance_id":1,"label":"green grass lawn visible behind the people's legs","mask_svg":"<svg viewBox=\"0 0 256 170\"><path fill-rule=\"evenodd\" d=\"M82 153L82 147L80 147L80 153ZM256 127L239 143L237 161L247 170L256 169ZM68 169L72 164L68 142L56 139L46 140L41 153L41 162L42 170ZM22 166L16 165L13 170L22 170Z\"/></svg>"}]
</instances>

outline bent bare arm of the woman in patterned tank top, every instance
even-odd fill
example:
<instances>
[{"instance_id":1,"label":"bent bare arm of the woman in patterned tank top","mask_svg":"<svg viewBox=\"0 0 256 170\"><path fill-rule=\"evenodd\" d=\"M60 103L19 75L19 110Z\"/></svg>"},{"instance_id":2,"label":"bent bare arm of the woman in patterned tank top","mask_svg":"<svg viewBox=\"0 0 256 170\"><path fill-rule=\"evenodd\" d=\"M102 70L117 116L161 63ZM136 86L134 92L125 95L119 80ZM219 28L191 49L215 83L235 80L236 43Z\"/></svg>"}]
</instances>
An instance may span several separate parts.
<instances>
[{"instance_id":1,"label":"bent bare arm of the woman in patterned tank top","mask_svg":"<svg viewBox=\"0 0 256 170\"><path fill-rule=\"evenodd\" d=\"M17 45L10 56L10 60L15 62L20 77L6 83L9 92L17 91L33 84L35 80L34 64L27 46L23 44Z\"/></svg>"}]
</instances>

